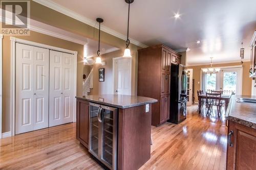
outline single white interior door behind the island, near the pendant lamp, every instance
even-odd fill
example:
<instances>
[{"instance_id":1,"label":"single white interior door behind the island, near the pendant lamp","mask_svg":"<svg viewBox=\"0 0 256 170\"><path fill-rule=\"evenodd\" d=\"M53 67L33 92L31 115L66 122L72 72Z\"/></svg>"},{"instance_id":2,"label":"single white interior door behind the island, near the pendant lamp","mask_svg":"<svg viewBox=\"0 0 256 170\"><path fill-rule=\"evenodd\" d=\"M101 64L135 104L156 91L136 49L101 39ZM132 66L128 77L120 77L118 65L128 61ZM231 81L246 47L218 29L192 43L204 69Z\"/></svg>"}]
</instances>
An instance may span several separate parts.
<instances>
[{"instance_id":1,"label":"single white interior door behind the island, near the pendant lamp","mask_svg":"<svg viewBox=\"0 0 256 170\"><path fill-rule=\"evenodd\" d=\"M132 58L113 59L114 94L132 93Z\"/></svg>"}]
</instances>

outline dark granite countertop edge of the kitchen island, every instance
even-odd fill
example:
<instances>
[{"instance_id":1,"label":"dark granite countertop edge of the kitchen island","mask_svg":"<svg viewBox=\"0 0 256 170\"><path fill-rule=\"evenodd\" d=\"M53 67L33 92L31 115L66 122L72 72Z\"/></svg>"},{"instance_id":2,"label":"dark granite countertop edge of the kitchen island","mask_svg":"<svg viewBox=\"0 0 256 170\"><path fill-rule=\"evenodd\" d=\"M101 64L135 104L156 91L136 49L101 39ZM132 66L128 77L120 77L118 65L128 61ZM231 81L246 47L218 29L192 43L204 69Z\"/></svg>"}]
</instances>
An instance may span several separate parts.
<instances>
[{"instance_id":1,"label":"dark granite countertop edge of the kitchen island","mask_svg":"<svg viewBox=\"0 0 256 170\"><path fill-rule=\"evenodd\" d=\"M136 106L141 106L141 105L152 104L152 103L158 102L158 100L154 99L149 102L141 102L141 103L131 104L131 105L127 105L127 106L120 106L120 105L115 105L115 104L111 104L111 103L105 103L105 102L95 101L95 100L91 100L91 99L81 98L79 96L76 96L76 99L80 99L80 100L84 100L84 101L88 101L88 102L92 102L92 103L97 103L97 104L101 104L101 105L105 105L105 106L116 107L116 108L120 108L120 109L127 109L127 108L132 108L132 107L136 107Z\"/></svg>"}]
</instances>

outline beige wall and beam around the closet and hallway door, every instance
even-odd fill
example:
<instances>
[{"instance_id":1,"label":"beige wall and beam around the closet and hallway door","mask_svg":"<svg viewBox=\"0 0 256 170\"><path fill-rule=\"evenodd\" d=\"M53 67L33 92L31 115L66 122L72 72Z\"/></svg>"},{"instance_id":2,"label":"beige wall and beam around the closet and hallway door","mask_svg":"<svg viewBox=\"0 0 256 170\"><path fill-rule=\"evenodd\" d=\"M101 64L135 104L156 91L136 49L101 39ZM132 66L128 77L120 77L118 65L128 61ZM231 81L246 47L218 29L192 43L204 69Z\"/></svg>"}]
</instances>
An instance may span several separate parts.
<instances>
[{"instance_id":1,"label":"beige wall and beam around the closet and hallway door","mask_svg":"<svg viewBox=\"0 0 256 170\"><path fill-rule=\"evenodd\" d=\"M31 11L30 11L31 19L69 31L71 33L78 34L80 36L98 40L98 29L91 27L83 22L80 22L74 18L71 18L67 15L54 11L48 7L42 6L34 1L31 1L30 6L31 6ZM77 94L82 94L82 72L88 74L91 68L90 66L83 66L83 63L82 63L83 46L82 45L61 40L58 38L46 36L36 32L31 32L30 36L22 36L18 38L35 41L35 42L43 43L47 45L57 46L61 48L66 48L68 50L78 51ZM120 56L120 54L123 53L125 49L125 43L126 43L124 40L105 32L101 32L100 38L101 38L101 42L120 48L119 54L116 54L117 56ZM133 87L132 87L133 89L132 90L135 94L137 93L136 70L137 70L137 64L138 64L137 50L139 48L140 47L138 47L137 45L134 45L132 43L130 44L130 49L133 54ZM111 70L111 67L112 67L111 65L106 65L109 67L108 70ZM2 125L3 129L2 129L2 132L8 132L10 131L10 76L9 76L10 75L10 38L8 36L4 36L4 39L3 39L3 75L4 76L3 76L3 125ZM97 83L98 83L98 89L103 88L102 86L103 84L99 84L99 82ZM94 85L97 86L97 83Z\"/></svg>"}]
</instances>

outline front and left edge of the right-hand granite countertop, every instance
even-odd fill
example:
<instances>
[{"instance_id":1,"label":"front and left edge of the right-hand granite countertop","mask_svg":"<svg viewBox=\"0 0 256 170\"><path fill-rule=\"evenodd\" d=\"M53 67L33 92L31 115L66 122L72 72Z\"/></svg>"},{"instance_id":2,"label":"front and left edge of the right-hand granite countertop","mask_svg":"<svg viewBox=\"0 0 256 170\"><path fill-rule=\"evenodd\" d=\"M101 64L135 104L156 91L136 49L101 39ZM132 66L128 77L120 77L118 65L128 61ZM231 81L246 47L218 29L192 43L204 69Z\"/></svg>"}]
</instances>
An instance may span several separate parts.
<instances>
[{"instance_id":1,"label":"front and left edge of the right-hand granite countertop","mask_svg":"<svg viewBox=\"0 0 256 170\"><path fill-rule=\"evenodd\" d=\"M231 96L231 99L230 99L230 103L228 105L228 108L227 108L227 114L225 115L225 117L228 119L228 120L231 120L232 122L235 122L235 123L238 123L238 124L241 124L241 125L244 125L246 127L249 127L249 128L253 128L253 129L256 129L256 124L253 123L253 122L249 122L247 120L244 120L244 119L241 119L241 118L238 118L238 117L234 117L234 116L231 116L229 115L229 112L232 111L232 105L234 104L234 102L236 102L236 95L233 95Z\"/></svg>"}]
</instances>

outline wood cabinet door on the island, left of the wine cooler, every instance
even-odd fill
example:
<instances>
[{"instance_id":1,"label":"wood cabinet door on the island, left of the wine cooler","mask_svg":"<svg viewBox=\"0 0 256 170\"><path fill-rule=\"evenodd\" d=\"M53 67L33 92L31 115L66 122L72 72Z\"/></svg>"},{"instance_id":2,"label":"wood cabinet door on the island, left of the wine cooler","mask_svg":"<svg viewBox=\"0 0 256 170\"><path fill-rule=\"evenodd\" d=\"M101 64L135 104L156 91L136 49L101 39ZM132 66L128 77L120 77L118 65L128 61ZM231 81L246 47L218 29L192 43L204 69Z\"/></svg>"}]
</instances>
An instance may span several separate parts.
<instances>
[{"instance_id":1,"label":"wood cabinet door on the island, left of the wine cooler","mask_svg":"<svg viewBox=\"0 0 256 170\"><path fill-rule=\"evenodd\" d=\"M88 149L89 102L77 99L76 107L76 139Z\"/></svg>"}]
</instances>

